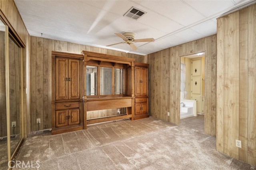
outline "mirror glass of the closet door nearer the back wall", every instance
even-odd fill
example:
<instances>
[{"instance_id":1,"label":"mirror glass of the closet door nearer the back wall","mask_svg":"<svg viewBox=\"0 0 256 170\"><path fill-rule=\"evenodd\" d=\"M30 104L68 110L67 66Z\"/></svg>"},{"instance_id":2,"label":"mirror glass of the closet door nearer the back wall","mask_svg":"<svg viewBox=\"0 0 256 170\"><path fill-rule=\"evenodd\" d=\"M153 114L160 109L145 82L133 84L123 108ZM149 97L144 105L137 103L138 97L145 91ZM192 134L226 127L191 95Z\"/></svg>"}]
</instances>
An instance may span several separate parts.
<instances>
[{"instance_id":1,"label":"mirror glass of the closet door nearer the back wall","mask_svg":"<svg viewBox=\"0 0 256 170\"><path fill-rule=\"evenodd\" d=\"M10 137L11 154L18 147L22 136L21 126L21 48L9 36L9 99L10 99Z\"/></svg>"}]
</instances>

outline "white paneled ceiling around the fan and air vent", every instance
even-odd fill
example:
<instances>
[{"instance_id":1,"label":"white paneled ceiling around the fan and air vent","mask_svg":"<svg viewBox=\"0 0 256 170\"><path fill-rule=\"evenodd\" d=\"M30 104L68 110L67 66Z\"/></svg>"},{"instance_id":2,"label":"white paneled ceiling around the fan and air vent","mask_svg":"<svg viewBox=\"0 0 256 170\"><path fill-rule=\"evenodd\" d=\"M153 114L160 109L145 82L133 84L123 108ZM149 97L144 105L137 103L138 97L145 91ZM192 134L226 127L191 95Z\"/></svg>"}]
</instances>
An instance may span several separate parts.
<instances>
[{"instance_id":1,"label":"white paneled ceiling around the fan and air vent","mask_svg":"<svg viewBox=\"0 0 256 170\"><path fill-rule=\"evenodd\" d=\"M216 34L216 18L256 0L14 0L31 36L146 55ZM147 12L137 21L123 15L132 6ZM135 45L114 33L132 31Z\"/></svg>"}]
</instances>

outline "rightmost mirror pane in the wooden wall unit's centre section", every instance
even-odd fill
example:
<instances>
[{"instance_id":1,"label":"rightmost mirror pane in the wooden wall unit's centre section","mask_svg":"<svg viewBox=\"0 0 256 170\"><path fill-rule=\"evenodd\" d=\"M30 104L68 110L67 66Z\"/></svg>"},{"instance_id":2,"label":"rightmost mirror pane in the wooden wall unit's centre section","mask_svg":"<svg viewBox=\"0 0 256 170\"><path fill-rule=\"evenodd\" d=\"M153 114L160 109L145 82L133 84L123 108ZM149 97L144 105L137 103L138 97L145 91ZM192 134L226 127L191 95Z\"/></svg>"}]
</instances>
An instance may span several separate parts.
<instances>
[{"instance_id":1,"label":"rightmost mirror pane in the wooden wall unit's centre section","mask_svg":"<svg viewBox=\"0 0 256 170\"><path fill-rule=\"evenodd\" d=\"M125 69L114 69L115 95L125 94Z\"/></svg>"}]
</instances>

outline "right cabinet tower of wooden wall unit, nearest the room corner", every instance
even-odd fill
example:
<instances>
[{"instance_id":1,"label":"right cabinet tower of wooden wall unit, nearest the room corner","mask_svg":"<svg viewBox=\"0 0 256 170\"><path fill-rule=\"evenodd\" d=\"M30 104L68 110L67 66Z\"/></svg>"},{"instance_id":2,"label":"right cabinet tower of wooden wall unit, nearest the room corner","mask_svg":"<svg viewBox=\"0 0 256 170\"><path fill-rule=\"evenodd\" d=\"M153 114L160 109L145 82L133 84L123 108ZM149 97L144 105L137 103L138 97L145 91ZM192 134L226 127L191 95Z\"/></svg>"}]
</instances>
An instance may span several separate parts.
<instances>
[{"instance_id":1,"label":"right cabinet tower of wooden wall unit, nearest the room corner","mask_svg":"<svg viewBox=\"0 0 256 170\"><path fill-rule=\"evenodd\" d=\"M149 117L148 114L148 64L134 62L135 115L134 120Z\"/></svg>"}]
</instances>

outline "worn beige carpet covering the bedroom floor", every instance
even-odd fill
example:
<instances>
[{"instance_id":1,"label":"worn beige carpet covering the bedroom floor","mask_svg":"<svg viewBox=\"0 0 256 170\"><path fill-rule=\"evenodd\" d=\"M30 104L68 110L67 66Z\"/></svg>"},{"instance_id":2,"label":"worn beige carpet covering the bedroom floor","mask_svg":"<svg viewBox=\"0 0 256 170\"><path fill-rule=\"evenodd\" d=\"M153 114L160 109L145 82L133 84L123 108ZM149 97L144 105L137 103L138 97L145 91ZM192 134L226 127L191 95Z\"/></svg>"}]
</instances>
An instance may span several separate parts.
<instances>
[{"instance_id":1,"label":"worn beige carpet covering the bedroom floor","mask_svg":"<svg viewBox=\"0 0 256 170\"><path fill-rule=\"evenodd\" d=\"M201 131L150 117L92 125L65 134L32 135L17 160L39 160L40 170L255 169L217 152L215 140Z\"/></svg>"}]
</instances>

